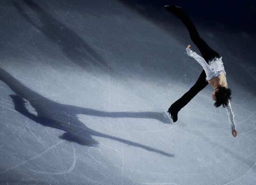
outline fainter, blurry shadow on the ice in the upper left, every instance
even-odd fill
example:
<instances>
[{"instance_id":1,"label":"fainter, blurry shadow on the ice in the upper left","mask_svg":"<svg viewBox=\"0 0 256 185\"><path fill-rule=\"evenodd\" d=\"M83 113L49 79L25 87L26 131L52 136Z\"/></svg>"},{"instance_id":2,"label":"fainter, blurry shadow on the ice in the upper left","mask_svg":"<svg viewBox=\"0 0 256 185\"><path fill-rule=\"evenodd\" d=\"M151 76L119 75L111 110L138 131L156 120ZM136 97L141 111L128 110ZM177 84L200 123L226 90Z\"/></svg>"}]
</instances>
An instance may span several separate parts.
<instances>
[{"instance_id":1,"label":"fainter, blurry shadow on the ice in the upper left","mask_svg":"<svg viewBox=\"0 0 256 185\"><path fill-rule=\"evenodd\" d=\"M98 68L107 67L106 61L74 31L57 19L54 19L52 15L35 2L31 0L23 0L23 2L36 13L40 23L36 23L36 19L33 20L33 17L29 16L20 4L13 2L13 6L31 25L40 30L53 43L59 45L62 53L75 65L84 70L89 70L91 66Z\"/></svg>"}]
</instances>

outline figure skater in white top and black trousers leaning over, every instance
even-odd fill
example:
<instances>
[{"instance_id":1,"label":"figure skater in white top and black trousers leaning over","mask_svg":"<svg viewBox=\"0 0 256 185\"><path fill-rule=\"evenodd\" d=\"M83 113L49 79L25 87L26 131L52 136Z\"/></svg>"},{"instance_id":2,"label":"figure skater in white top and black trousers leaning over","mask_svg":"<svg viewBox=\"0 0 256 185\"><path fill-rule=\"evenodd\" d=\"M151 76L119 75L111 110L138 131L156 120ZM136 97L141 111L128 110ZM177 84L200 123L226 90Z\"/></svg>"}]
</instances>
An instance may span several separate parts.
<instances>
[{"instance_id":1,"label":"figure skater in white top and black trousers leaning over","mask_svg":"<svg viewBox=\"0 0 256 185\"><path fill-rule=\"evenodd\" d=\"M171 115L173 122L178 120L178 112L192 100L197 93L204 89L208 83L213 87L212 98L215 100L214 106L220 107L221 105L226 108L231 133L234 137L237 135L236 123L234 120L234 113L231 109L230 99L231 90L228 88L226 80L226 72L222 63L222 57L207 45L207 43L200 37L195 25L189 19L189 16L178 6L165 6L166 9L178 17L183 24L187 27L190 38L197 46L202 54L202 57L190 49L190 45L187 46L186 51L190 57L193 57L199 64L202 65L202 73L195 85L188 92L186 92L180 99L174 102L168 109L168 113Z\"/></svg>"}]
</instances>

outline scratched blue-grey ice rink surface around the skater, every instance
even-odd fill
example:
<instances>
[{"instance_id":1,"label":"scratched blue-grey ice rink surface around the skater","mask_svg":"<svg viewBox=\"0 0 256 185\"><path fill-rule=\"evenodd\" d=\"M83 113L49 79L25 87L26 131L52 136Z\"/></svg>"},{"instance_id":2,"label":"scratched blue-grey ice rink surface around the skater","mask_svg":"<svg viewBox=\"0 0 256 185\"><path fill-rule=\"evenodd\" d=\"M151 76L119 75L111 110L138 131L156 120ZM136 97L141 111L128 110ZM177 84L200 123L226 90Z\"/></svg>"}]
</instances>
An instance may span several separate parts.
<instances>
[{"instance_id":1,"label":"scratched blue-grey ice rink surface around the skater","mask_svg":"<svg viewBox=\"0 0 256 185\"><path fill-rule=\"evenodd\" d=\"M255 35L194 17L222 56L238 136L210 85L173 123L169 106L202 71L185 48L200 52L148 8L0 1L1 185L256 184Z\"/></svg>"}]
</instances>

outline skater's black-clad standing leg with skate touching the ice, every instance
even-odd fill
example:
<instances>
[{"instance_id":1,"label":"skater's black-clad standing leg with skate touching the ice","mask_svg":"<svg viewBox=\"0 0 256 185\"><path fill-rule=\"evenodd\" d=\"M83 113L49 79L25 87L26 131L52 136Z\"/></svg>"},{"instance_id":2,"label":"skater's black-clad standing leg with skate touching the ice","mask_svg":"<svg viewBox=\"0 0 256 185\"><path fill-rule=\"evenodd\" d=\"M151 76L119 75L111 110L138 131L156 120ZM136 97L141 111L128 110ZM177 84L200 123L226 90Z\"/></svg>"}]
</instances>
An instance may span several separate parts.
<instances>
[{"instance_id":1,"label":"skater's black-clad standing leg with skate touching the ice","mask_svg":"<svg viewBox=\"0 0 256 185\"><path fill-rule=\"evenodd\" d=\"M190 102L190 100L192 100L192 98L195 97L197 93L199 93L208 85L208 82L205 80L205 77L206 74L203 70L201 75L197 79L196 83L193 85L193 87L189 89L188 92L186 92L180 99L178 99L170 106L170 108L168 109L168 113L171 115L174 122L178 120L178 112L185 105L187 105Z\"/></svg>"}]
</instances>

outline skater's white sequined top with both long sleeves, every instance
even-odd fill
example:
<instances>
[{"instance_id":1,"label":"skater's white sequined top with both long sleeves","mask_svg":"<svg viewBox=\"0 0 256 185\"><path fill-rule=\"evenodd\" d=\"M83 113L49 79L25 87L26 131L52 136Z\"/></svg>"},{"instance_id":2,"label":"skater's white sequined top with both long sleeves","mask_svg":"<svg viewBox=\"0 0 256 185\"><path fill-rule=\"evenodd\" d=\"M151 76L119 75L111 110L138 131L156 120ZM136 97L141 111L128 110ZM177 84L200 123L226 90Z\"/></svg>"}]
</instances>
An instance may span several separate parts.
<instances>
[{"instance_id":1,"label":"skater's white sequined top with both long sleeves","mask_svg":"<svg viewBox=\"0 0 256 185\"><path fill-rule=\"evenodd\" d=\"M222 57L216 57L209 61L209 64L201 57L198 55L196 52L190 50L189 48L186 48L187 54L190 57L193 57L203 68L206 74L206 80L211 80L215 77L218 77L222 72L224 72L225 77L226 77L226 72L224 69L224 65L222 62ZM227 83L227 79L226 79ZM227 83L228 84L228 83ZM228 102L228 105L226 106L227 114L229 117L229 123L230 123L230 128L231 129L236 129L236 123L234 119L234 113L231 108L230 101Z\"/></svg>"}]
</instances>

